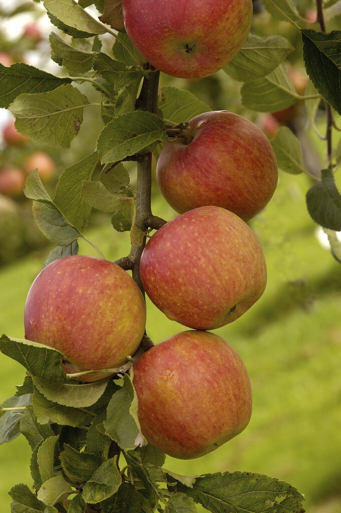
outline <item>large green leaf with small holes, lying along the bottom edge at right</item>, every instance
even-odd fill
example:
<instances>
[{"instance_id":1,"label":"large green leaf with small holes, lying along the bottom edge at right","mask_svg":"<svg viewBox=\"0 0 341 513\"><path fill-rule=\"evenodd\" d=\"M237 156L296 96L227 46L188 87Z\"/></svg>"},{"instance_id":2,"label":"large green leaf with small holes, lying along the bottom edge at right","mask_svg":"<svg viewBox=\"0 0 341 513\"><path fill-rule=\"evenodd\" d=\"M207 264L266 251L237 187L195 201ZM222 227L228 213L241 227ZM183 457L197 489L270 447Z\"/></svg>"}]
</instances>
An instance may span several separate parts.
<instances>
[{"instance_id":1,"label":"large green leaf with small holes, lying along the bottom edge at right","mask_svg":"<svg viewBox=\"0 0 341 513\"><path fill-rule=\"evenodd\" d=\"M303 513L304 497L293 486L250 472L224 472L197 478L193 488L177 489L212 513Z\"/></svg>"}]
</instances>

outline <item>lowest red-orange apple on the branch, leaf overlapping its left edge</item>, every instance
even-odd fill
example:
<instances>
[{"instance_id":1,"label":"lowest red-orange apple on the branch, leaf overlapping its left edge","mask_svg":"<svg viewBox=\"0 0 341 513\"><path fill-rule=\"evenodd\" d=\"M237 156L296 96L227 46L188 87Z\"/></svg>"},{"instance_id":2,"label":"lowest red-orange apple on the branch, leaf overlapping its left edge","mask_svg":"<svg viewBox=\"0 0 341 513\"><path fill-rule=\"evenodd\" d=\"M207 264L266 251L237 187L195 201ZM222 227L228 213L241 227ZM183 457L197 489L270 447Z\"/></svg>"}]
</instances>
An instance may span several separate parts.
<instances>
[{"instance_id":1,"label":"lowest red-orange apple on the branch, leaf overlapping its left edge","mask_svg":"<svg viewBox=\"0 0 341 513\"><path fill-rule=\"evenodd\" d=\"M146 440L167 455L198 458L247 427L252 391L235 349L207 331L183 331L134 365L138 418Z\"/></svg>"}]
</instances>

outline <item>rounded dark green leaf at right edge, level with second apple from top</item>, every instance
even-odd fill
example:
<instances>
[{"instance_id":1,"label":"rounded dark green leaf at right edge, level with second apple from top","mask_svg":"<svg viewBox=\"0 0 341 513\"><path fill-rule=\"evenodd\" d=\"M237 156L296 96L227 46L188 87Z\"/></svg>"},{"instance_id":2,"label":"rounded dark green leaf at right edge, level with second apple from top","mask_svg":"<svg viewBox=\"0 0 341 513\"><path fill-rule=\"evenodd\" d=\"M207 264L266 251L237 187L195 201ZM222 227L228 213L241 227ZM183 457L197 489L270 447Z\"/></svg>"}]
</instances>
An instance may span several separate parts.
<instances>
[{"instance_id":1,"label":"rounded dark green leaf at right edge, level with second apple from top","mask_svg":"<svg viewBox=\"0 0 341 513\"><path fill-rule=\"evenodd\" d=\"M309 189L306 200L315 223L330 230L341 230L341 195L330 169L321 171L321 181Z\"/></svg>"}]
</instances>

